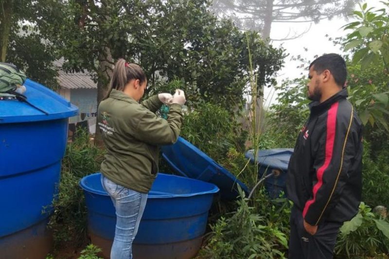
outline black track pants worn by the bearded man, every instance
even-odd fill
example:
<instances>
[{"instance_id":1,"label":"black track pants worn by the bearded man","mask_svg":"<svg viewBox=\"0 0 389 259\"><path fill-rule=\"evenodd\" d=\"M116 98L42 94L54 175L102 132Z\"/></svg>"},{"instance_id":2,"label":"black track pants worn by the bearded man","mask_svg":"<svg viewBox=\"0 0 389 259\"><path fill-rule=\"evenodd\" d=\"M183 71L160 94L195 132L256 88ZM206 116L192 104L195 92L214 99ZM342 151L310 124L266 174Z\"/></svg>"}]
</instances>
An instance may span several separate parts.
<instances>
[{"instance_id":1,"label":"black track pants worn by the bearded man","mask_svg":"<svg viewBox=\"0 0 389 259\"><path fill-rule=\"evenodd\" d=\"M336 236L342 224L323 222L311 235L305 231L302 212L292 207L288 259L331 259L334 255Z\"/></svg>"}]
</instances>

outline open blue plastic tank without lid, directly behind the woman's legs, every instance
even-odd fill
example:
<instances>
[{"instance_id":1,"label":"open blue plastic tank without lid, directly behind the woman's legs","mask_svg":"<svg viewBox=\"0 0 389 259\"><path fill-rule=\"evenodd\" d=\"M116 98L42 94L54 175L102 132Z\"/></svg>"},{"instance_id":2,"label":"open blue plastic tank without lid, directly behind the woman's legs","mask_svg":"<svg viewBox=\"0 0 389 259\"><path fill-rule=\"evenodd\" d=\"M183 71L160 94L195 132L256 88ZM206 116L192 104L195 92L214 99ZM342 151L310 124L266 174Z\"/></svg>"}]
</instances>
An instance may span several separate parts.
<instances>
[{"instance_id":1,"label":"open blue plastic tank without lid, directly behind the woman's legs","mask_svg":"<svg viewBox=\"0 0 389 259\"><path fill-rule=\"evenodd\" d=\"M88 233L109 257L115 208L101 185L101 173L81 179L88 207ZM189 259L200 249L213 195L219 189L199 180L158 173L134 240L137 259Z\"/></svg>"}]
</instances>

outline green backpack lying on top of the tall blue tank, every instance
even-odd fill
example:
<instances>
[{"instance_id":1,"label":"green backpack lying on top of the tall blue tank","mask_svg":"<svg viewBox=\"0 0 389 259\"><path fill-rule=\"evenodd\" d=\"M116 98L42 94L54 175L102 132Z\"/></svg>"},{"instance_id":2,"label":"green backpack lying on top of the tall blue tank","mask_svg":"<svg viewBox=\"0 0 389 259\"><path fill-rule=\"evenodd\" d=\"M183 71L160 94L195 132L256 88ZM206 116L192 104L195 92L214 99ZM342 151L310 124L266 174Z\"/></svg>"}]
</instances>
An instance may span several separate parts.
<instances>
[{"instance_id":1,"label":"green backpack lying on top of the tall blue tank","mask_svg":"<svg viewBox=\"0 0 389 259\"><path fill-rule=\"evenodd\" d=\"M17 85L23 85L26 78L16 66L0 62L0 96L18 97Z\"/></svg>"}]
</instances>

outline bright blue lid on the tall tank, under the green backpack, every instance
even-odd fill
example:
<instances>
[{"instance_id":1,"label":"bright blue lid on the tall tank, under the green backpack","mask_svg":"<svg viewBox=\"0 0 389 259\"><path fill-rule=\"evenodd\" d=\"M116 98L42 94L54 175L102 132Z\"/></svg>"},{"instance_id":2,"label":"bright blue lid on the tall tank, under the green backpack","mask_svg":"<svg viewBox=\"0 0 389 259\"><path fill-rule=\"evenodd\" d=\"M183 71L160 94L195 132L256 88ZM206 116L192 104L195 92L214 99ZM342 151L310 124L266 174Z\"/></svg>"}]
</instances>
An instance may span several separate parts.
<instances>
[{"instance_id":1,"label":"bright blue lid on the tall tank, under the green backpack","mask_svg":"<svg viewBox=\"0 0 389 259\"><path fill-rule=\"evenodd\" d=\"M57 120L78 114L76 106L49 88L29 79L24 86L27 90L23 95L32 105L18 100L0 100L0 124Z\"/></svg>"}]
</instances>

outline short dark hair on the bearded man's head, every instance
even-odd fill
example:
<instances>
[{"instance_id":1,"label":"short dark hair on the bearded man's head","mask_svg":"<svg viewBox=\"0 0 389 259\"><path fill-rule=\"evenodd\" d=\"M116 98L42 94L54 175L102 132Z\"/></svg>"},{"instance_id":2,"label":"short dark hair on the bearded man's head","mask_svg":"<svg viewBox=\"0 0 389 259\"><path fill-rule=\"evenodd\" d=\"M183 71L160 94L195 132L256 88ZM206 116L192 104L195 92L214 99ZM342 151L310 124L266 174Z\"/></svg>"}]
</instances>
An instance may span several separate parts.
<instances>
[{"instance_id":1,"label":"short dark hair on the bearded man's head","mask_svg":"<svg viewBox=\"0 0 389 259\"><path fill-rule=\"evenodd\" d=\"M324 54L315 59L311 65L309 65L309 68L312 66L314 66L313 69L318 74L321 74L324 70L330 70L338 86L343 87L346 83L346 62L340 55L335 53Z\"/></svg>"}]
</instances>

